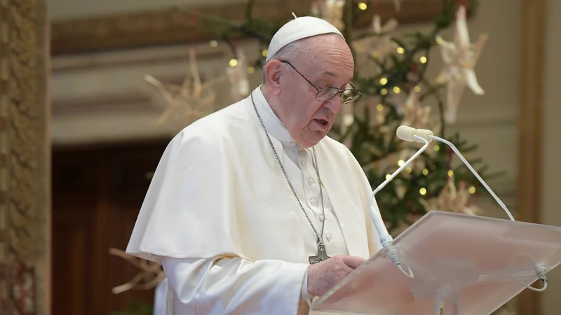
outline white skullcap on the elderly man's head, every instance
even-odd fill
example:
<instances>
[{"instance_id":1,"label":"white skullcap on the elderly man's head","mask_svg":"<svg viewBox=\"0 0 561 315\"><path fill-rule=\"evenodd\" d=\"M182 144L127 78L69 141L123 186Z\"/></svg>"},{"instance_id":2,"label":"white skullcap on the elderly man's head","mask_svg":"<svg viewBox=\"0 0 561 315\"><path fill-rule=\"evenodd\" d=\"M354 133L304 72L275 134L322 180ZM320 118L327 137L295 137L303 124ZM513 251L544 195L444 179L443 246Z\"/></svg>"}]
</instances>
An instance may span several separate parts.
<instances>
[{"instance_id":1,"label":"white skullcap on the elderly man's head","mask_svg":"<svg viewBox=\"0 0 561 315\"><path fill-rule=\"evenodd\" d=\"M283 48L288 43L292 43L293 41L297 41L302 38L316 36L320 34L341 34L337 27L334 27L329 22L322 20L320 18L314 18L312 16L303 16L301 18L296 18L287 22L283 27L280 27L278 31L271 39L271 43L269 43L269 49L267 50L267 57L266 62L273 57L273 55Z\"/></svg>"}]
</instances>

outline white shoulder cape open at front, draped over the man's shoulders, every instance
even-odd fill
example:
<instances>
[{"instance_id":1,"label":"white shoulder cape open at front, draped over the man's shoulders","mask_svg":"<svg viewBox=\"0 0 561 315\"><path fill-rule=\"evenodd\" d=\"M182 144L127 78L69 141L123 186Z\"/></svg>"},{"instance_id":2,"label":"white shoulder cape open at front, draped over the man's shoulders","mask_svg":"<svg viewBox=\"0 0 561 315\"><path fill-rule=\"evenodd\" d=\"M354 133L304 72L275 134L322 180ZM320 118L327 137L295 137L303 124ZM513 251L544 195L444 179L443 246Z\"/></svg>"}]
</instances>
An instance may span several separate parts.
<instances>
[{"instance_id":1,"label":"white shoulder cape open at front, draped over the man's shoulders","mask_svg":"<svg viewBox=\"0 0 561 315\"><path fill-rule=\"evenodd\" d=\"M280 141L271 140L281 152ZM370 258L380 246L363 170L346 146L329 137L316 153L349 255ZM170 141L126 251L156 262L162 255L236 255L307 263L303 233L311 230L302 231L301 212L248 97Z\"/></svg>"}]
</instances>

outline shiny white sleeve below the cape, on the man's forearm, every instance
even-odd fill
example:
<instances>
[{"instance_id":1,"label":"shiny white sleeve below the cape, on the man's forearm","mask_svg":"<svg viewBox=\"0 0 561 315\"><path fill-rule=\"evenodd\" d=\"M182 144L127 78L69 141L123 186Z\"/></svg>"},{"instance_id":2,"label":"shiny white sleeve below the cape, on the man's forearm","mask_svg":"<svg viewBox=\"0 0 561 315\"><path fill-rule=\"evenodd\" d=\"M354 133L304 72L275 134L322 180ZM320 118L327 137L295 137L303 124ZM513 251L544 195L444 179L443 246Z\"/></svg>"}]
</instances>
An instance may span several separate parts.
<instances>
[{"instance_id":1,"label":"shiny white sleeve below the cape, on the man's forearm","mask_svg":"<svg viewBox=\"0 0 561 315\"><path fill-rule=\"evenodd\" d=\"M306 264L239 257L161 262L175 293L170 314L296 315L299 307L308 307L302 299Z\"/></svg>"}]
</instances>

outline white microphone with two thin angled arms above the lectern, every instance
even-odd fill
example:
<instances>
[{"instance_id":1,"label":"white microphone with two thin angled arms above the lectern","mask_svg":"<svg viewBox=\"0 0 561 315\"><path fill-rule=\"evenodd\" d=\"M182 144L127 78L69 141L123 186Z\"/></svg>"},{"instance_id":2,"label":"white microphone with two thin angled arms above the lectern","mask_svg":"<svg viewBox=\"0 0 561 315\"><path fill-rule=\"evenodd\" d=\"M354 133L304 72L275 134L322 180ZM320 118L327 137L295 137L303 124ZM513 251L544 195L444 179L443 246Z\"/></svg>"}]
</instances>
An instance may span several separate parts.
<instances>
[{"instance_id":1,"label":"white microphone with two thin angled arms above the lectern","mask_svg":"<svg viewBox=\"0 0 561 315\"><path fill-rule=\"evenodd\" d=\"M419 155L421 155L421 153L423 153L426 150L426 148L428 147L428 144L430 144L433 140L442 142L443 144L446 144L447 146L450 146L450 148L452 148L452 151L454 151L454 153L456 153L458 155L458 157L461 159L461 162L464 162L464 165L466 165L466 167L468 167L468 169L473 173L473 175L478 179L478 181L480 181L480 183L482 183L482 185L485 187L485 189L487 189L489 194L491 194L493 196L494 200L497 203L499 203L501 208L506 212L508 218L510 218L511 221L515 221L512 214L511 214L511 211L508 211L505 204L499 199L499 197L496 196L496 194L493 192L493 190L491 188L489 188L487 183L485 183L485 181L483 181L481 176L479 176L478 172L475 172L475 169L473 169L473 167L469 164L469 162L466 160L466 158L464 158L464 155L461 155L461 153L458 151L456 146L454 146L454 144L452 144L450 141L447 141L447 140L442 139L440 137L436 137L431 130L415 129L413 127L409 127L409 126L405 126L405 125L402 125L402 126L398 127L398 130L396 131L396 135L399 139L401 139L403 141L417 142L419 144L424 144L424 146L422 146L417 151L417 153L412 155L412 157L409 158L409 160L407 160L405 163L403 163L403 165L401 167L399 167L396 170L396 172L393 172L393 174L391 174L391 176L389 176L383 183L381 183L376 189L374 189L372 191L372 195L370 195L370 216L372 218L372 222L374 223L374 227L376 228L376 230L378 232L378 235L380 237L380 244L381 244L382 247L385 248L386 246L388 246L388 244L390 244L391 241L393 241L393 237L391 237L391 235L389 235L388 229L386 228L386 225L384 224L384 221L381 218L381 214L380 214L380 210L378 208L378 205L374 201L374 195L376 195L382 188L384 188L384 186L386 186L401 171L403 171L403 169L405 169L405 167L410 165L410 163L414 159L416 159ZM406 276L409 276L410 278L413 277L411 269L409 269L409 273L407 273L407 272L405 272L403 267L401 267L401 264L400 264L400 262L397 258L397 253L396 252L392 252L391 255L390 255L390 258L393 261L393 263L399 267L399 269L401 270L401 272L403 272L403 274L405 274Z\"/></svg>"}]
</instances>

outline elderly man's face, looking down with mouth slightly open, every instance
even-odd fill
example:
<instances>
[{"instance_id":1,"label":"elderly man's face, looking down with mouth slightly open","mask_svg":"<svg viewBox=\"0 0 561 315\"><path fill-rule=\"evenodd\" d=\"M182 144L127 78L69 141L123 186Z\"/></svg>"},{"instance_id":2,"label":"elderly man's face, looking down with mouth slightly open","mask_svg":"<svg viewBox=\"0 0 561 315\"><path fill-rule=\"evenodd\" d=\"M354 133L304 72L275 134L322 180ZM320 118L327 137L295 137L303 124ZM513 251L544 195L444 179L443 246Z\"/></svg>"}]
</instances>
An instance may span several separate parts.
<instances>
[{"instance_id":1,"label":"elderly man's face, looking down with mouth slightly open","mask_svg":"<svg viewBox=\"0 0 561 315\"><path fill-rule=\"evenodd\" d=\"M353 77L353 56L340 36L316 36L306 43L297 60L288 60L302 76L317 87L346 88ZM318 90L289 64L283 64L280 77L278 115L299 145L309 148L323 139L341 109L340 94L318 101Z\"/></svg>"}]
</instances>

